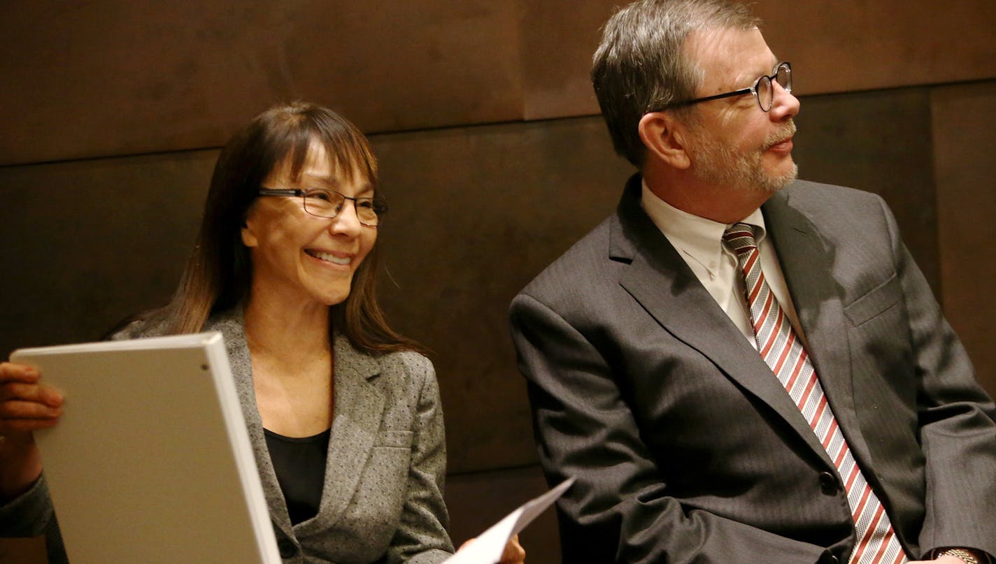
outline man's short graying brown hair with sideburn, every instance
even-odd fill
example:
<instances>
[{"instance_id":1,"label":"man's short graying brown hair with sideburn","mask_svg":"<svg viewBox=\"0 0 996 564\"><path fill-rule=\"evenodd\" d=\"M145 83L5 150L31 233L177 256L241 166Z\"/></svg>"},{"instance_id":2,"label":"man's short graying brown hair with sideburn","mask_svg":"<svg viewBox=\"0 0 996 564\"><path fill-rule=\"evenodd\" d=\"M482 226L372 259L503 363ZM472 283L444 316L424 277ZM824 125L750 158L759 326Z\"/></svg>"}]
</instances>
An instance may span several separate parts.
<instances>
[{"instance_id":1,"label":"man's short graying brown hair with sideburn","mask_svg":"<svg viewBox=\"0 0 996 564\"><path fill-rule=\"evenodd\" d=\"M747 6L733 0L638 0L616 12L592 61L592 86L616 152L641 167L643 114L695 96L703 75L684 53L689 35L715 28L748 30L759 23Z\"/></svg>"}]
</instances>

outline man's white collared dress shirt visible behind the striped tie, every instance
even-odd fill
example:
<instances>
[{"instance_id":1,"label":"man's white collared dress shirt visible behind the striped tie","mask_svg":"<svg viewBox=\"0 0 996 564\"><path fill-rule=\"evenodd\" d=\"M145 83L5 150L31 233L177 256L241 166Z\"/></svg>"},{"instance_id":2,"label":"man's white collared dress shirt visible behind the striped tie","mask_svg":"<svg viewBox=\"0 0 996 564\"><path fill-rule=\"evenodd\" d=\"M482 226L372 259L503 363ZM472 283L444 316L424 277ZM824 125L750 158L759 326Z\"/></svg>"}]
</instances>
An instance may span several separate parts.
<instances>
[{"instance_id":1,"label":"man's white collared dress shirt visible behind the striped tie","mask_svg":"<svg viewBox=\"0 0 996 564\"><path fill-rule=\"evenodd\" d=\"M698 281L702 282L751 345L757 348L757 339L750 320L750 311L747 309L744 282L739 274L737 258L723 245L723 233L729 226L671 206L651 192L645 182L639 202L643 211L650 216L653 224L681 255ZM760 209L754 210L741 220L741 223L759 228L754 231L758 250L761 253L761 271L775 293L778 303L789 316L796 335L802 339L803 346L807 346L806 336L799 326L799 317L785 283L785 275L782 274L782 267L778 264L775 245L771 238L767 237L764 215Z\"/></svg>"}]
</instances>

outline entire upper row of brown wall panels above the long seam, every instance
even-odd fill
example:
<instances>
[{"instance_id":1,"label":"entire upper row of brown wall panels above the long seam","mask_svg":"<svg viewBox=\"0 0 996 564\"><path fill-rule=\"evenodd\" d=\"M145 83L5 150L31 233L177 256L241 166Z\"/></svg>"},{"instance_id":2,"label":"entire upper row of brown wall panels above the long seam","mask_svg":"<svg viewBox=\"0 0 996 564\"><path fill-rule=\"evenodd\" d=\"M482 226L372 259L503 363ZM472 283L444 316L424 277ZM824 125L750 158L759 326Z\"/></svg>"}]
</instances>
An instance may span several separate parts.
<instances>
[{"instance_id":1,"label":"entire upper row of brown wall panels above the long seam","mask_svg":"<svg viewBox=\"0 0 996 564\"><path fill-rule=\"evenodd\" d=\"M617 4L7 0L0 165L217 146L276 99L366 131L592 114L589 61ZM991 0L755 11L802 94L996 77Z\"/></svg>"}]
</instances>

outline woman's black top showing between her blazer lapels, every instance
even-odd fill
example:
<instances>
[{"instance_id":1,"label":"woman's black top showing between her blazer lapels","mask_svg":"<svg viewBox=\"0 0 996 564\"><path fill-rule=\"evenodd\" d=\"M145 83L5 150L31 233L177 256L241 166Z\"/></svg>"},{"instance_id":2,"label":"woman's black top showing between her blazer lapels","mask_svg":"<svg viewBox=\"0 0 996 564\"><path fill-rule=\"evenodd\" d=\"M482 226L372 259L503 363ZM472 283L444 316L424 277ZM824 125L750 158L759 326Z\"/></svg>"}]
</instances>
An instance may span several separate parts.
<instances>
[{"instance_id":1,"label":"woman's black top showing between her blazer lapels","mask_svg":"<svg viewBox=\"0 0 996 564\"><path fill-rule=\"evenodd\" d=\"M263 430L292 525L318 514L331 431L327 429L314 437L295 438Z\"/></svg>"}]
</instances>

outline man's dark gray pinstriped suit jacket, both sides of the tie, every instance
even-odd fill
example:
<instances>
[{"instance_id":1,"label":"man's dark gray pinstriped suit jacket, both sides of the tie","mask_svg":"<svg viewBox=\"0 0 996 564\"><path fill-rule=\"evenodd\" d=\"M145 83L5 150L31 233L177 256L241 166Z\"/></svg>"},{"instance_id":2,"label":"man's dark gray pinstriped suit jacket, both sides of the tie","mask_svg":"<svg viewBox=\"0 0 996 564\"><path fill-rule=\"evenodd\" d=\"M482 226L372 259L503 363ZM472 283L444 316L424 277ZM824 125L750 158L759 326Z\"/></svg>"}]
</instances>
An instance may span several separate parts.
<instances>
[{"instance_id":1,"label":"man's dark gray pinstriped suit jacket, both sides of the tie","mask_svg":"<svg viewBox=\"0 0 996 564\"><path fill-rule=\"evenodd\" d=\"M847 561L840 478L760 355L639 206L516 296L566 562ZM809 352L907 552L996 553L992 401L884 203L798 181L763 208Z\"/></svg>"}]
</instances>

